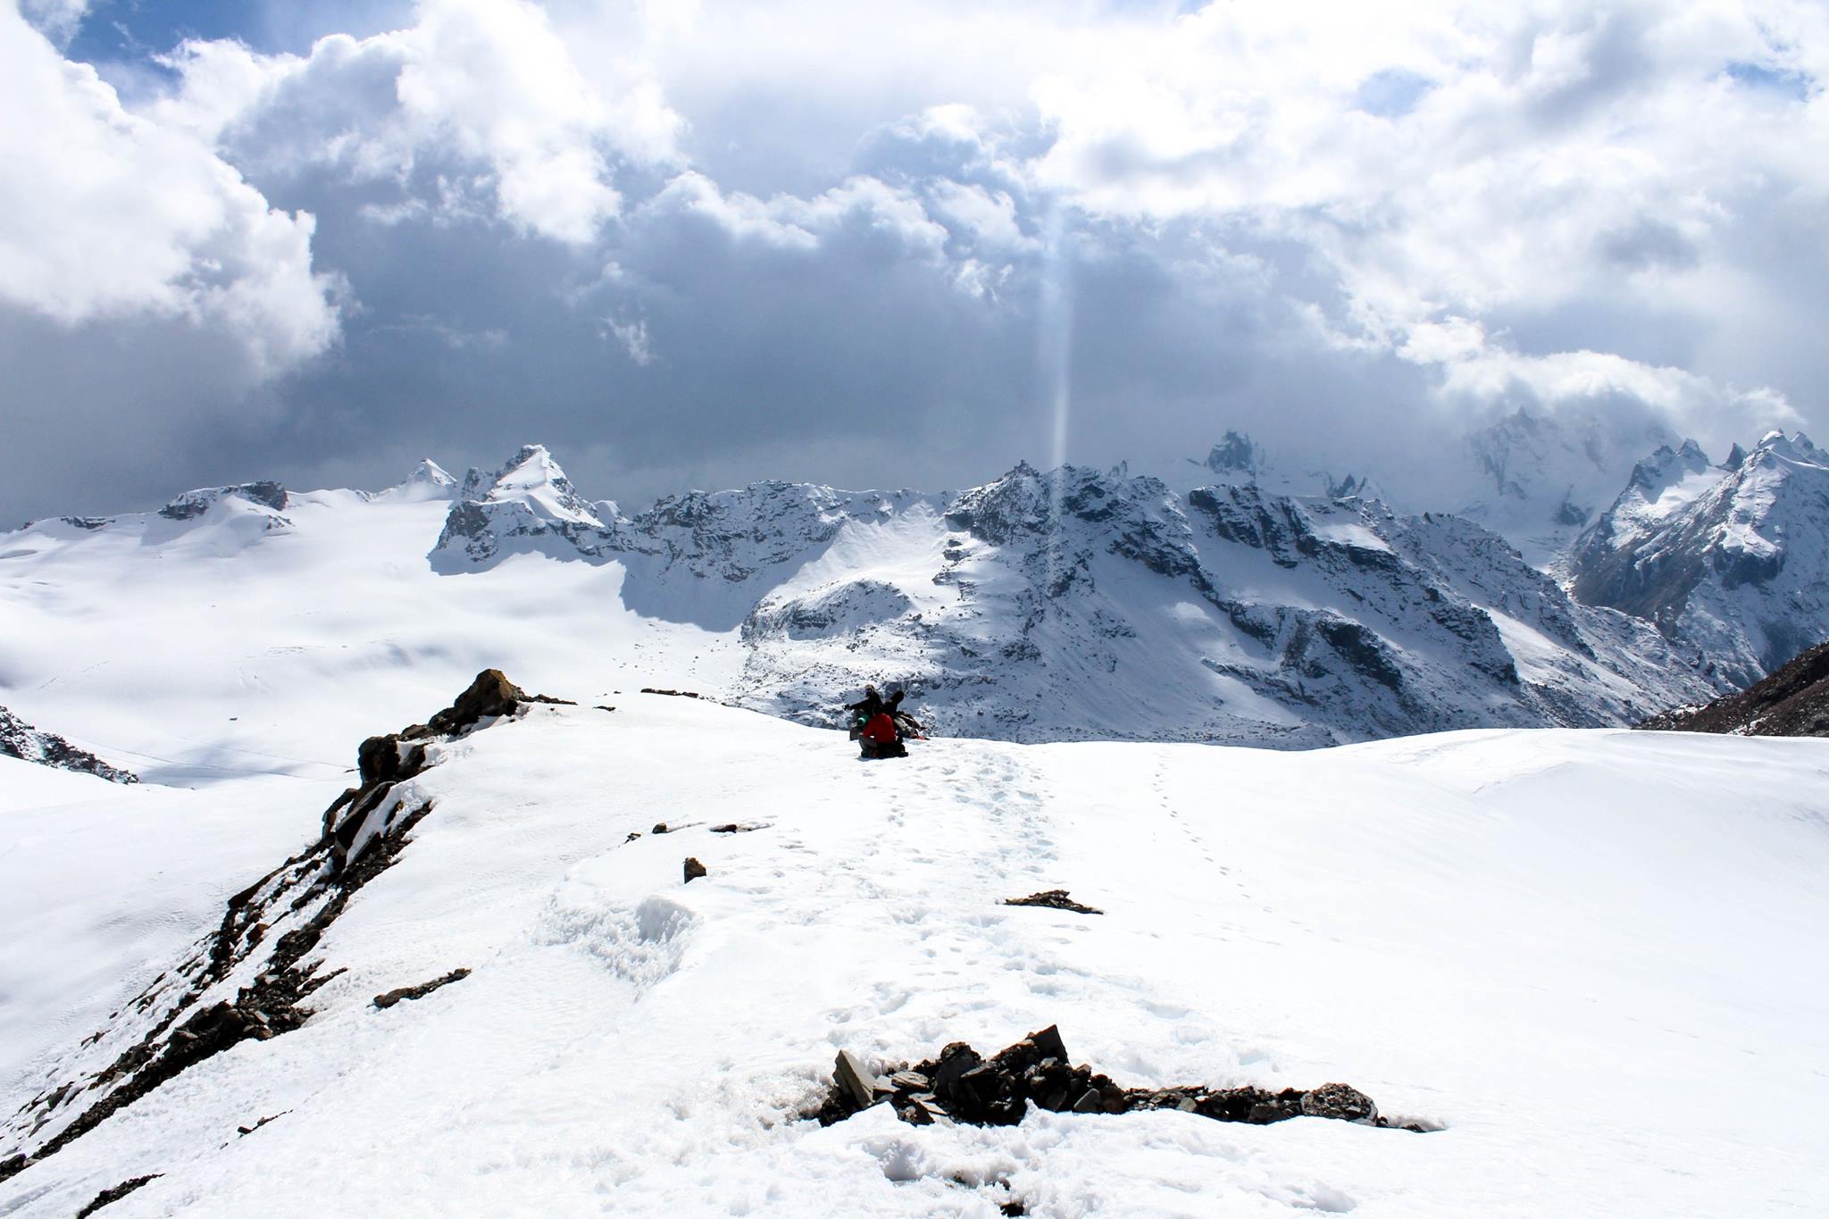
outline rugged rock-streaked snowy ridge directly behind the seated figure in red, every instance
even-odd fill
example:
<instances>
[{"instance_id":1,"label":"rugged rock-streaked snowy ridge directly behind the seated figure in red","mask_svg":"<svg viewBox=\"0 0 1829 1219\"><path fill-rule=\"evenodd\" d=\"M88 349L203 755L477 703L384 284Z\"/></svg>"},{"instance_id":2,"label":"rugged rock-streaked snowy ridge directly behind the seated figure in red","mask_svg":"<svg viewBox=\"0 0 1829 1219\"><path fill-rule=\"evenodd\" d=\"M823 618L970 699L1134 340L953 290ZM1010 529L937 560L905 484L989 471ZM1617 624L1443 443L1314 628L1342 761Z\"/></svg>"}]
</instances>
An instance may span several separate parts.
<instances>
[{"instance_id":1,"label":"rugged rock-streaked snowy ridge directly behind the seated figure in red","mask_svg":"<svg viewBox=\"0 0 1829 1219\"><path fill-rule=\"evenodd\" d=\"M882 680L955 737L1295 747L1620 724L1714 693L1694 656L1474 525L1253 481L1178 495L1017 466L957 495L761 482L624 517L529 446L472 473L432 565L514 554L615 563L626 607L739 631L724 693L818 724Z\"/></svg>"}]
</instances>

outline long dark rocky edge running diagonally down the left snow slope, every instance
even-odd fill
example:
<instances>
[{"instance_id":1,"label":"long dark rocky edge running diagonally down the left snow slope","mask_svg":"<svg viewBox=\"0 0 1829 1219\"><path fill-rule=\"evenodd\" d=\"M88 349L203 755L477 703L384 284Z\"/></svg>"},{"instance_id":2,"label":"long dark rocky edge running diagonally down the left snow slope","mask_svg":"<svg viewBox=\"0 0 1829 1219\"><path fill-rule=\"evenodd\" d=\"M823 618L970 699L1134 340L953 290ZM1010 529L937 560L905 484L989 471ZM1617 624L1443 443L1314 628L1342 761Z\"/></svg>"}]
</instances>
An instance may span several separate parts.
<instances>
[{"instance_id":1,"label":"long dark rocky edge running diagonally down the left snow slope","mask_svg":"<svg viewBox=\"0 0 1829 1219\"><path fill-rule=\"evenodd\" d=\"M218 928L128 1005L148 1016L152 1027L123 1044L110 1065L46 1089L5 1120L5 1133L16 1133L22 1148L46 1126L55 1133L31 1151L0 1159L0 1182L55 1155L205 1058L304 1025L311 1016L305 998L342 972L318 972L324 959L311 958L318 941L349 897L395 863L413 828L432 811L432 800L415 800L399 786L432 766L426 746L463 737L485 720L516 715L525 704L562 702L529 694L499 669L485 669L426 724L364 740L357 751L360 786L324 810L318 841L229 897ZM309 917L298 914L305 908ZM282 923L289 928L271 936ZM227 998L219 983L249 959L260 959L258 972ZM221 998L207 1002L212 992ZM126 1036L134 1033L123 1034L112 1025L101 1029L93 1044L121 1044ZM86 1106L59 1129L62 1109L79 1100Z\"/></svg>"}]
</instances>

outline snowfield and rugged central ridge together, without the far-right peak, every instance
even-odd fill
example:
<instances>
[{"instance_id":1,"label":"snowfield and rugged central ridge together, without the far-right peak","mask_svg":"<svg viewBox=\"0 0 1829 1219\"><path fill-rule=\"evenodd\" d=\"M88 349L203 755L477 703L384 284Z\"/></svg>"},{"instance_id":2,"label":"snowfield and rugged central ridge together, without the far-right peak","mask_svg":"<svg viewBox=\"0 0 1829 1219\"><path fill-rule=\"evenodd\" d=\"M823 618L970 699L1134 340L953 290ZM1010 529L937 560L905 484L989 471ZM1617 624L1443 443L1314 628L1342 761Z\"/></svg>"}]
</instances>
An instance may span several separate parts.
<instances>
[{"instance_id":1,"label":"snowfield and rugged central ridge together, without the far-right peak","mask_svg":"<svg viewBox=\"0 0 1829 1219\"><path fill-rule=\"evenodd\" d=\"M0 691L82 749L199 782L337 773L355 713L490 665L808 724L905 682L942 735L1282 747L1631 724L1745 671L1465 519L1280 493L1244 437L1214 461L1189 490L1019 466L957 493L757 482L633 515L540 446L461 486L428 462L379 493L190 492L0 535ZM198 700L232 709L196 724Z\"/></svg>"}]
</instances>

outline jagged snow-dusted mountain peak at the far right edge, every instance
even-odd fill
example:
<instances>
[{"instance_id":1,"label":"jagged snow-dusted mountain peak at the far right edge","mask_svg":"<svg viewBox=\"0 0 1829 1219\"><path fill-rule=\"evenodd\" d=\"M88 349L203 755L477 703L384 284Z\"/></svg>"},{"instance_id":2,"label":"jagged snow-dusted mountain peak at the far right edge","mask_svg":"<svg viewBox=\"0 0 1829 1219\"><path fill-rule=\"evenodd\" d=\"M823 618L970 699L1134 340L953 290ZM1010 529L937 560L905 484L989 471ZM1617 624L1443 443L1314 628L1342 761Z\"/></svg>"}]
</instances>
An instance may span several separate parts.
<instances>
[{"instance_id":1,"label":"jagged snow-dusted mountain peak at the far right edge","mask_svg":"<svg viewBox=\"0 0 1829 1219\"><path fill-rule=\"evenodd\" d=\"M1639 464L1580 537L1588 605L1655 621L1738 689L1829 638L1829 453L1767 433L1721 466L1686 442Z\"/></svg>"}]
</instances>

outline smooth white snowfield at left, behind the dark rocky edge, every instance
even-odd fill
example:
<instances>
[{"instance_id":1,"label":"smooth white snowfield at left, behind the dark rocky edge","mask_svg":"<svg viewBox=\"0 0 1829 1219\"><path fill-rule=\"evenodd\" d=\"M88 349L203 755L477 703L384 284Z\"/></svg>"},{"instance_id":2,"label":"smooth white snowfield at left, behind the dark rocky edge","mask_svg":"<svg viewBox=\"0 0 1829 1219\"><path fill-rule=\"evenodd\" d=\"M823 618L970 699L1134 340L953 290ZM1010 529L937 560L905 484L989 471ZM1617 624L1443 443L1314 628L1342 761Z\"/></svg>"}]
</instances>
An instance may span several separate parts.
<instances>
[{"instance_id":1,"label":"smooth white snowfield at left, behind the dark rocky edge","mask_svg":"<svg viewBox=\"0 0 1829 1219\"><path fill-rule=\"evenodd\" d=\"M437 576L424 556L452 495L428 462L377 495L223 488L174 501L201 504L177 519L4 534L0 704L148 782L340 784L351 740L488 665L589 702L615 702L629 665L688 689L733 680L735 640L624 609L620 567L523 556Z\"/></svg>"}]
</instances>

